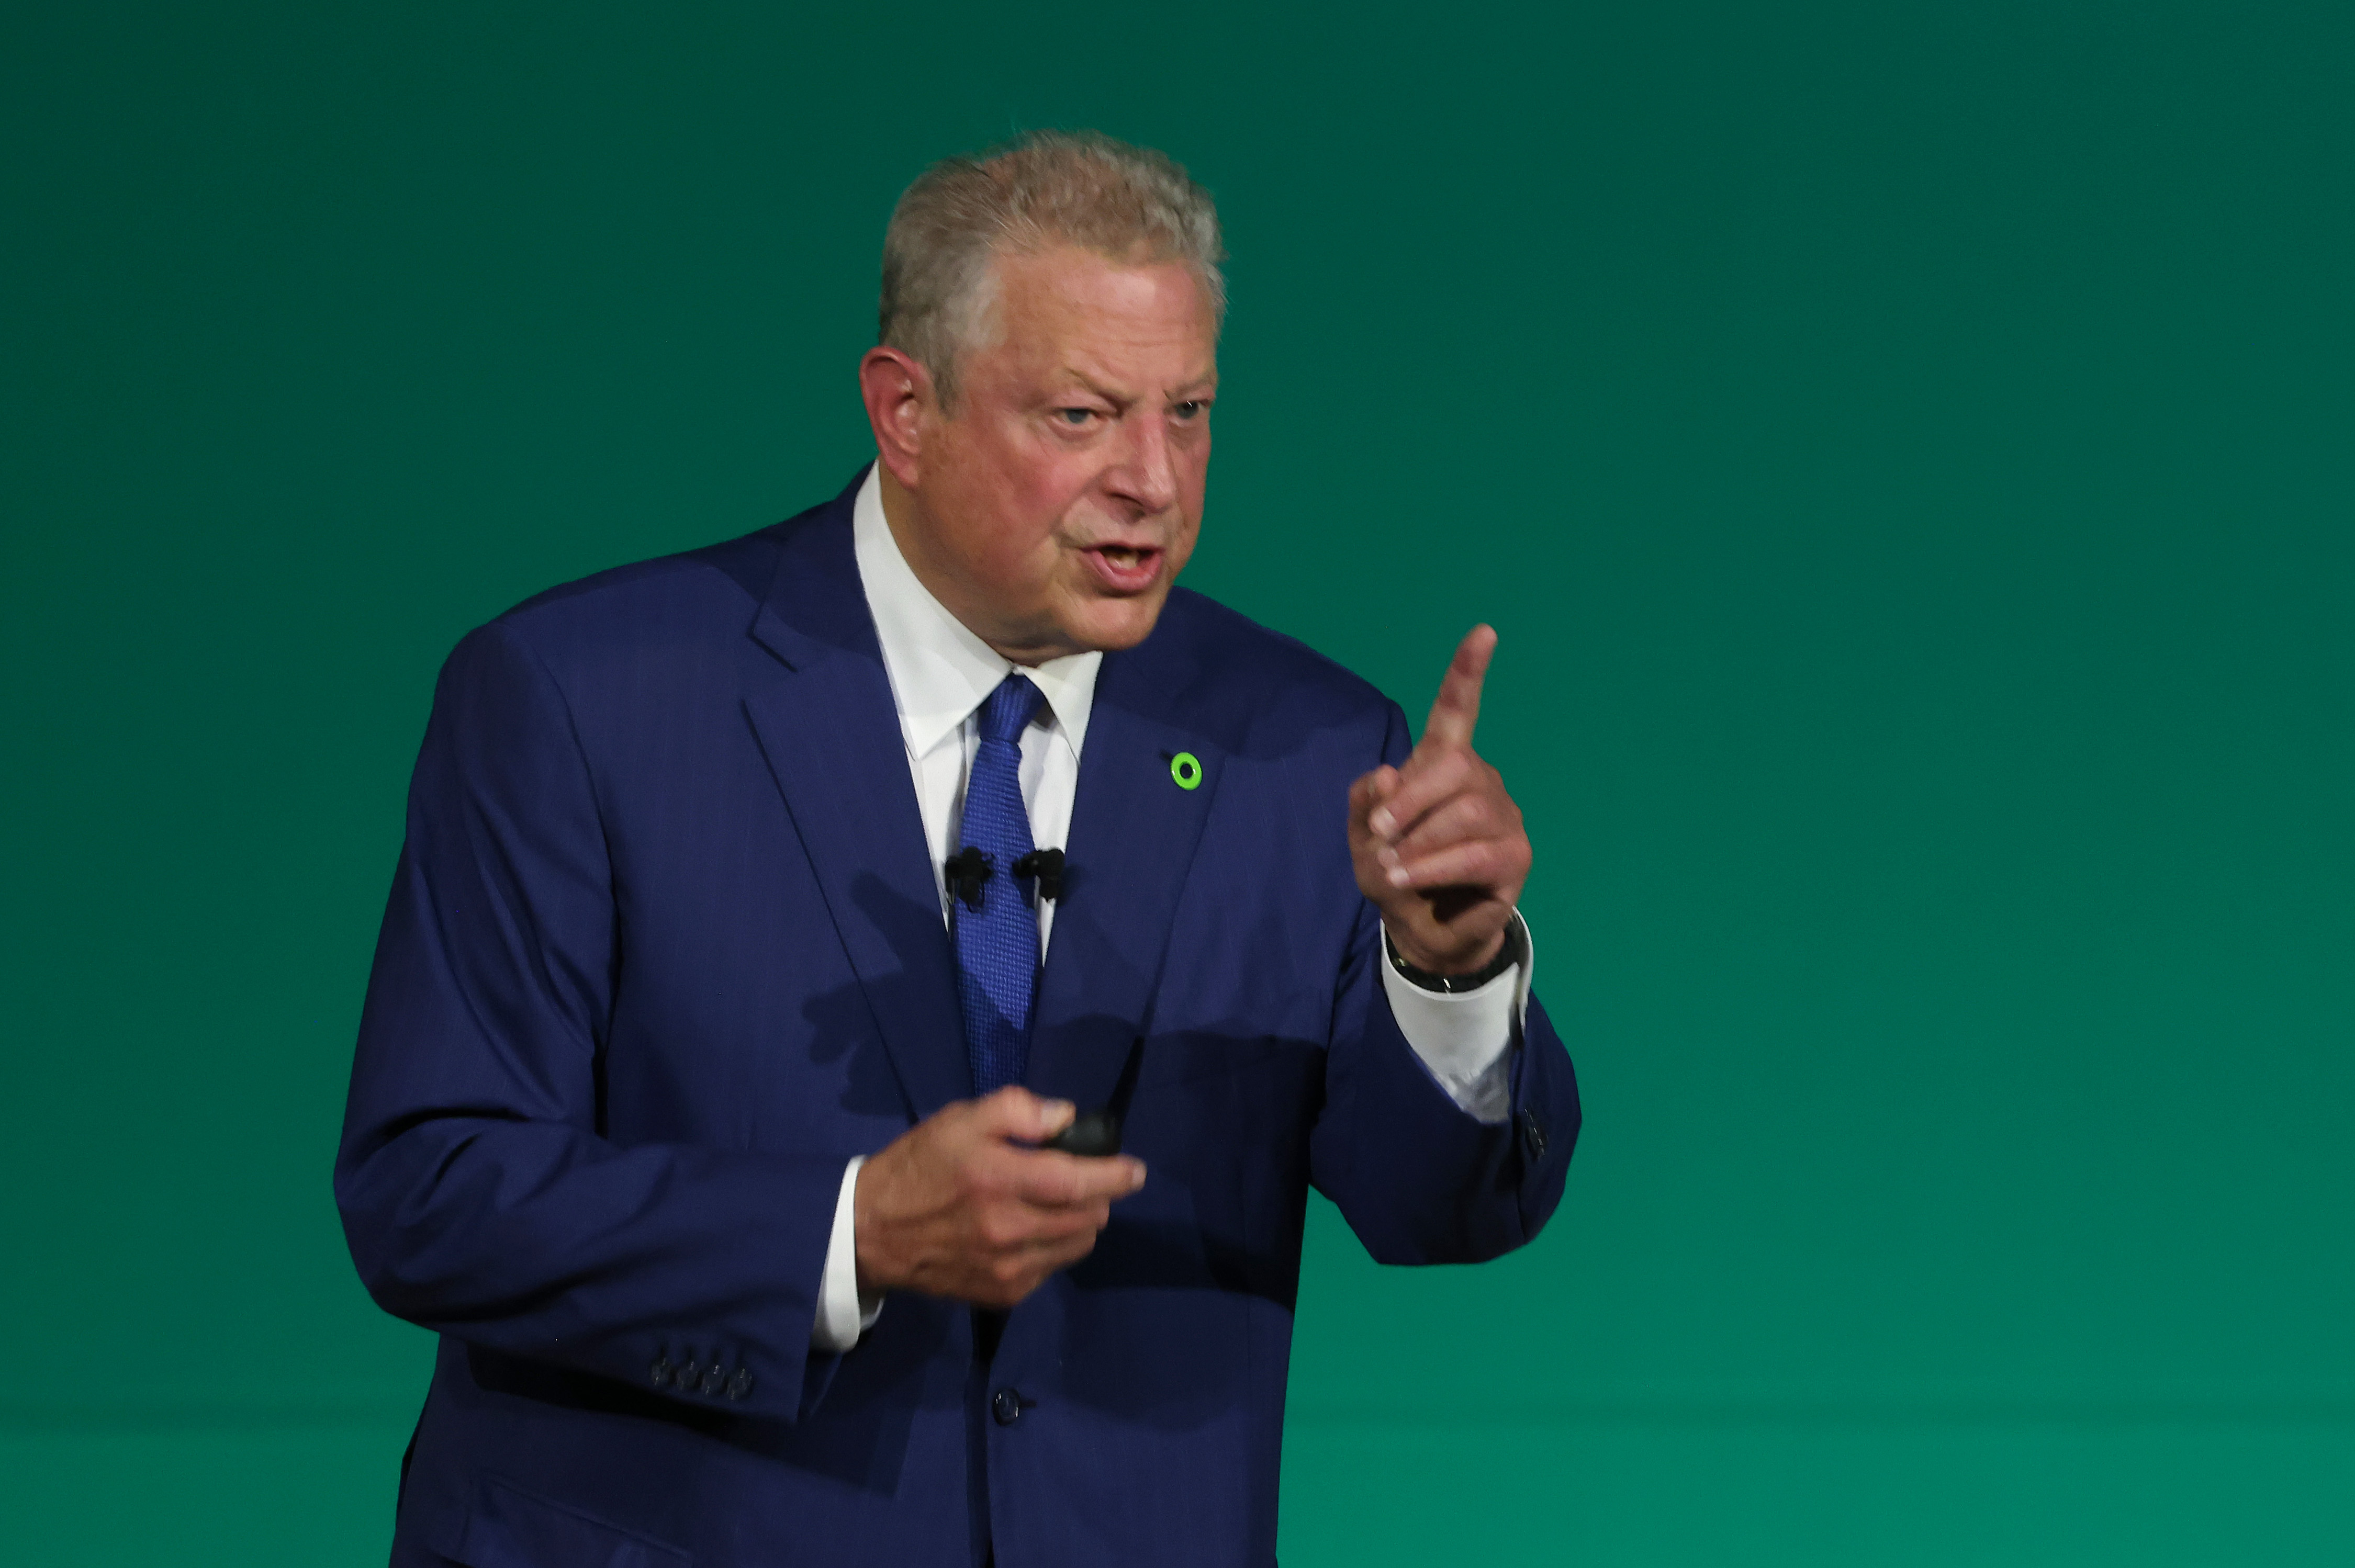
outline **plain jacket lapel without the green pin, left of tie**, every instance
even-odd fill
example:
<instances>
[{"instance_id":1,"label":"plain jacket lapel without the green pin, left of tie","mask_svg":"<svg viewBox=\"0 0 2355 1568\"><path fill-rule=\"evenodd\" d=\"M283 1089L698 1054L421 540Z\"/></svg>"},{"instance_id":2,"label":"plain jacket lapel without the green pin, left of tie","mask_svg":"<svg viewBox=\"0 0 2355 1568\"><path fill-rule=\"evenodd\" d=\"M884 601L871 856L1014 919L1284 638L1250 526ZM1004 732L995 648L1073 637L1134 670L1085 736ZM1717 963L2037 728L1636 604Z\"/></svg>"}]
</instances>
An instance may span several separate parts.
<instances>
[{"instance_id":1,"label":"plain jacket lapel without the green pin, left of tie","mask_svg":"<svg viewBox=\"0 0 2355 1568\"><path fill-rule=\"evenodd\" d=\"M744 711L921 1121L970 1095L973 1071L956 956L850 546L855 492L787 534L775 586L751 626L777 662L751 678Z\"/></svg>"}]
</instances>

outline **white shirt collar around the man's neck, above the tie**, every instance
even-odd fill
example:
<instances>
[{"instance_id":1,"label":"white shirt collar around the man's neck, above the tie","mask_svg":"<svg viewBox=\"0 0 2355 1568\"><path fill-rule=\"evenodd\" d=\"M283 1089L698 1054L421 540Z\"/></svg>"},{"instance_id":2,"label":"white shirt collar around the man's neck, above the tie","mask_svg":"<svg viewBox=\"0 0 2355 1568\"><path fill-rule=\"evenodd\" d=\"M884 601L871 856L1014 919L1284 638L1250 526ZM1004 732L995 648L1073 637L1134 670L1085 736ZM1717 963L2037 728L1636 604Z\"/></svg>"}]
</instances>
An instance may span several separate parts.
<instances>
[{"instance_id":1,"label":"white shirt collar around the man's neck, above the tie","mask_svg":"<svg viewBox=\"0 0 2355 1568\"><path fill-rule=\"evenodd\" d=\"M909 756L923 756L958 735L966 718L999 690L1015 664L949 614L900 553L900 542L883 518L883 464L867 469L867 483L850 504L850 544L860 563L860 584L867 589L867 612L876 622L876 640L883 643L893 699L900 704L900 735ZM1095 671L1102 664L1102 652L1083 652L1022 669L1046 695L1046 706L1074 758L1088 739Z\"/></svg>"}]
</instances>

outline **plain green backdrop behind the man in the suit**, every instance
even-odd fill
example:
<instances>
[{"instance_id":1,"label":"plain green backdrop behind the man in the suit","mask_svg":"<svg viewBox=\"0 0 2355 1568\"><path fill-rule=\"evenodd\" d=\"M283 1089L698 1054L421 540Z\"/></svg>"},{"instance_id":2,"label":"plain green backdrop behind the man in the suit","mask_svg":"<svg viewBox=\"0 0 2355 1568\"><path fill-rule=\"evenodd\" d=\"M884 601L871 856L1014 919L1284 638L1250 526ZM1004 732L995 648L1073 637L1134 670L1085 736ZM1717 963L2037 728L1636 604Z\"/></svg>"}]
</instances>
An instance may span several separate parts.
<instances>
[{"instance_id":1,"label":"plain green backdrop behind the man in the suit","mask_svg":"<svg viewBox=\"0 0 2355 1568\"><path fill-rule=\"evenodd\" d=\"M1283 1559L2355 1561L2355 12L12 5L0 1556L372 1563L431 678L869 452L883 219L1220 198L1189 582L1502 631L1545 1238L1312 1215ZM1338 808L1338 803L1335 803Z\"/></svg>"}]
</instances>

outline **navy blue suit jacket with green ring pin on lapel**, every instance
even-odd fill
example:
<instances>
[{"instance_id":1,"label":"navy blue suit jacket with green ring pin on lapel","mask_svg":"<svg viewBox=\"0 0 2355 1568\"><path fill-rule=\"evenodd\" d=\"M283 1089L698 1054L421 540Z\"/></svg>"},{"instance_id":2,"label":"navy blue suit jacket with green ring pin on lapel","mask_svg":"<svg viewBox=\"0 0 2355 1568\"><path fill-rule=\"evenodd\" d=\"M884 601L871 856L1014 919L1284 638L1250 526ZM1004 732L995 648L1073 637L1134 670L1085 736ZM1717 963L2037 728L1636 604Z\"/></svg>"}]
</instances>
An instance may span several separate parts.
<instances>
[{"instance_id":1,"label":"navy blue suit jacket with green ring pin on lapel","mask_svg":"<svg viewBox=\"0 0 2355 1568\"><path fill-rule=\"evenodd\" d=\"M812 1349L843 1161L970 1092L850 499L443 669L334 1177L370 1293L440 1333L396 1561L1272 1563L1307 1189L1401 1264L1561 1196L1543 1008L1488 1125L1382 996L1345 796L1397 704L1180 589L1097 678L1027 1071L1100 1104L1149 1019L1147 1187L987 1366L926 1297Z\"/></svg>"}]
</instances>

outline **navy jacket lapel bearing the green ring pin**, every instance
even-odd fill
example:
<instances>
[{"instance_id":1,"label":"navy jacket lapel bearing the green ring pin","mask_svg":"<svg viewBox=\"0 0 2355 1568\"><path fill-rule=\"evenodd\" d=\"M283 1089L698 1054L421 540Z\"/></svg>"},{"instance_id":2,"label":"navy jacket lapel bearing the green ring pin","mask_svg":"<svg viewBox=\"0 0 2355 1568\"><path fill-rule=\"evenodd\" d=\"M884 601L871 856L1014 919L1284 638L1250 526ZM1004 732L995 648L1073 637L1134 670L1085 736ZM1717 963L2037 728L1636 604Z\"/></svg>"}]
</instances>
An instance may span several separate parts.
<instances>
[{"instance_id":1,"label":"navy jacket lapel bearing the green ring pin","mask_svg":"<svg viewBox=\"0 0 2355 1568\"><path fill-rule=\"evenodd\" d=\"M1031 1024L1024 1083L1083 1111L1112 1092L1147 1024L1225 753L1185 727L1156 678L1154 640L1107 655L1079 760L1069 873ZM1189 753L1192 789L1173 777Z\"/></svg>"}]
</instances>

